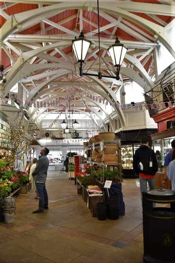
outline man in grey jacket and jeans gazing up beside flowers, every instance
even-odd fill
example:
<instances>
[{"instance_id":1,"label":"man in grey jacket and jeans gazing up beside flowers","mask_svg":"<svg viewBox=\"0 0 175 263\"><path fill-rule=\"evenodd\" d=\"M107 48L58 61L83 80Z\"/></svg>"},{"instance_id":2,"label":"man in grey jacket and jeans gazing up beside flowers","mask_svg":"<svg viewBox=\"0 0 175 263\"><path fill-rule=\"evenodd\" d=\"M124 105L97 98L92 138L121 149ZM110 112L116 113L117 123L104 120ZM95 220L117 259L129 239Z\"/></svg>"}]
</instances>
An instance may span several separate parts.
<instances>
[{"instance_id":1,"label":"man in grey jacket and jeans gazing up beside flowers","mask_svg":"<svg viewBox=\"0 0 175 263\"><path fill-rule=\"evenodd\" d=\"M47 171L49 167L49 159L47 155L49 153L48 148L43 148L40 151L41 158L38 159L36 168L32 175L34 176L36 190L39 197L39 208L36 211L33 211L33 214L43 213L44 209L48 209L48 194L46 190L46 179Z\"/></svg>"}]
</instances>

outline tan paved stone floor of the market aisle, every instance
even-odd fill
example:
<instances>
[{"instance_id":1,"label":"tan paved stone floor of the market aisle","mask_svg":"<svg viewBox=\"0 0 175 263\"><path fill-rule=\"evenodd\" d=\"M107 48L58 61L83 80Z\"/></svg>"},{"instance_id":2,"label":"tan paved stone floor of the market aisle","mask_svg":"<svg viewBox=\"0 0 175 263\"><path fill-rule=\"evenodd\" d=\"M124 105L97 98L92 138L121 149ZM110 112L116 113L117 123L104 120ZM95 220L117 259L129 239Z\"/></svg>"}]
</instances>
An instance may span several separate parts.
<instances>
[{"instance_id":1,"label":"tan paved stone floor of the market aisle","mask_svg":"<svg viewBox=\"0 0 175 263\"><path fill-rule=\"evenodd\" d=\"M74 181L49 172L49 210L37 209L34 191L17 197L13 224L0 223L0 263L141 263L142 213L139 180L122 183L126 215L98 221L77 195Z\"/></svg>"}]
</instances>

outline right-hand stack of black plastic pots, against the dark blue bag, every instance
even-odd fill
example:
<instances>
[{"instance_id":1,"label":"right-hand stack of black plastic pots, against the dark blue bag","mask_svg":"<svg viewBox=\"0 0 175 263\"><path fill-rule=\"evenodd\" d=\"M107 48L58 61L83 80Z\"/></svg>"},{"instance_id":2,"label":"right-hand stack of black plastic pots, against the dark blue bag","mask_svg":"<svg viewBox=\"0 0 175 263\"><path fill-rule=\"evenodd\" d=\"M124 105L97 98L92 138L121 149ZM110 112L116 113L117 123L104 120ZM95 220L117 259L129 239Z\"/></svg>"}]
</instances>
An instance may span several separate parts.
<instances>
[{"instance_id":1,"label":"right-hand stack of black plastic pots, against the dark blue bag","mask_svg":"<svg viewBox=\"0 0 175 263\"><path fill-rule=\"evenodd\" d=\"M116 220L119 217L119 195L110 195L107 199L108 218Z\"/></svg>"}]
</instances>

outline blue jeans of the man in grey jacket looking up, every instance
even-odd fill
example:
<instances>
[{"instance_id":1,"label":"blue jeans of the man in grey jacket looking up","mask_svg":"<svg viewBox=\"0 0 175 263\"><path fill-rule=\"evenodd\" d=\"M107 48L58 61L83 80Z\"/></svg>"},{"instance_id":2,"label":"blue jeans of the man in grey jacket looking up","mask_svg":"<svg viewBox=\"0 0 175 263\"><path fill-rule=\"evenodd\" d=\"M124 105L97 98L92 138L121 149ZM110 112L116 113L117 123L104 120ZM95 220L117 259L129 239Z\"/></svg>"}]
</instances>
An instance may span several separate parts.
<instances>
[{"instance_id":1,"label":"blue jeans of the man in grey jacket looking up","mask_svg":"<svg viewBox=\"0 0 175 263\"><path fill-rule=\"evenodd\" d=\"M35 183L36 184L36 190L38 192L39 197L39 210L44 211L45 207L48 207L48 194L46 190L46 184L45 183Z\"/></svg>"}]
</instances>

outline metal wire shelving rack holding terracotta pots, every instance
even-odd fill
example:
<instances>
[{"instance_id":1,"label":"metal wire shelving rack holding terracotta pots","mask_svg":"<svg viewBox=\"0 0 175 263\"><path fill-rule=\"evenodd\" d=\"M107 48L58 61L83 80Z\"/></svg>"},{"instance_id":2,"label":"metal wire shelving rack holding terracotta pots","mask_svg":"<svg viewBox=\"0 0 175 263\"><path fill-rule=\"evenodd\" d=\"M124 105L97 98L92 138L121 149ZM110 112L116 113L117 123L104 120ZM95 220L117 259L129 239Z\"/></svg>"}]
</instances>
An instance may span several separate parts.
<instances>
[{"instance_id":1,"label":"metal wire shelving rack holding terracotta pots","mask_svg":"<svg viewBox=\"0 0 175 263\"><path fill-rule=\"evenodd\" d=\"M104 163L104 162L93 162L92 161L92 150L93 149L97 149L97 148L101 148L101 151L104 155L104 148L106 144L117 144L118 145L118 163ZM122 181L122 166L121 166L121 143L120 140L116 140L116 141L101 141L101 142L97 142L97 143L92 143L89 146L84 146L84 154L85 154L85 149L90 150L90 161L86 161L87 163L91 164L91 172L93 169L92 164L97 164L100 167L102 167L103 170L103 182L104 182L104 171L105 170L111 170L111 171L115 171L116 169L119 170L119 177L120 177L120 182ZM83 162L85 162L85 159L83 159Z\"/></svg>"}]
</instances>

